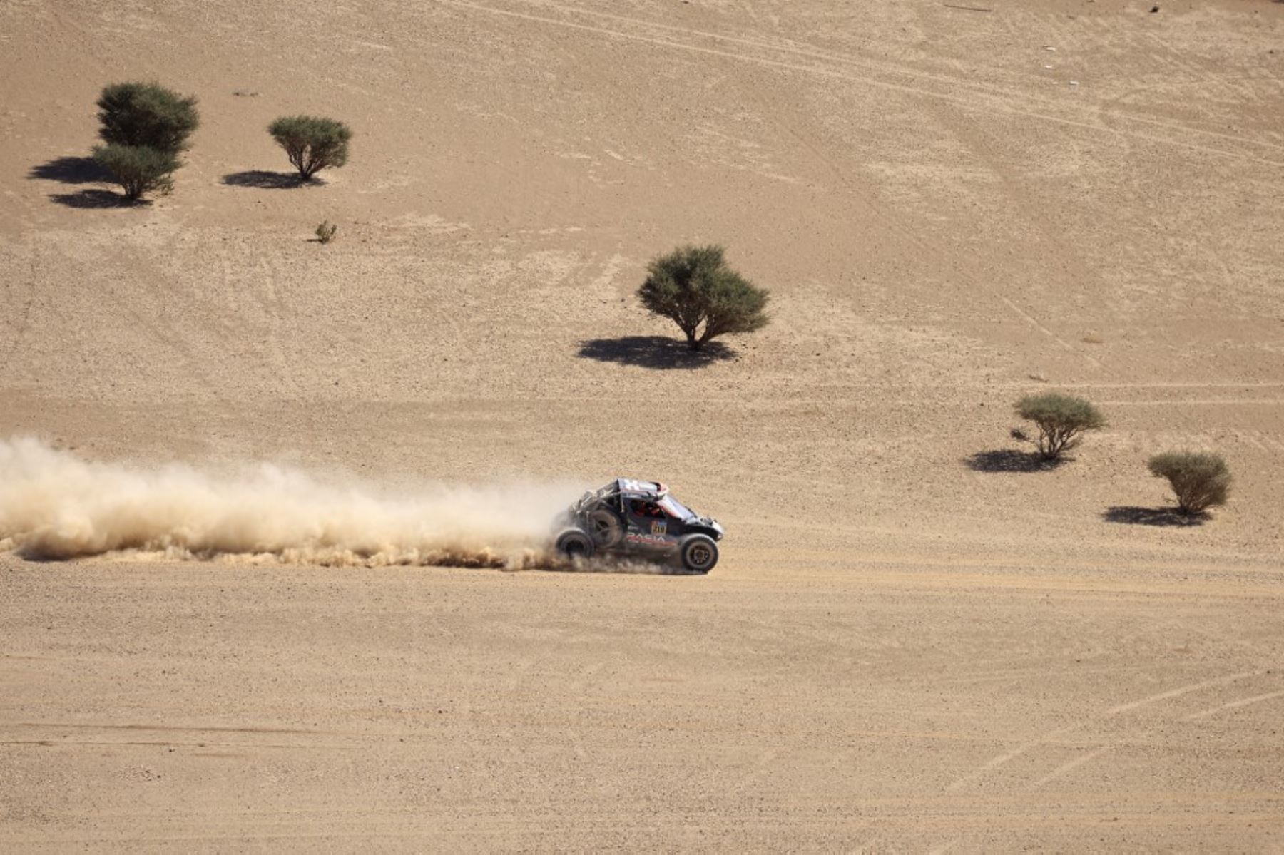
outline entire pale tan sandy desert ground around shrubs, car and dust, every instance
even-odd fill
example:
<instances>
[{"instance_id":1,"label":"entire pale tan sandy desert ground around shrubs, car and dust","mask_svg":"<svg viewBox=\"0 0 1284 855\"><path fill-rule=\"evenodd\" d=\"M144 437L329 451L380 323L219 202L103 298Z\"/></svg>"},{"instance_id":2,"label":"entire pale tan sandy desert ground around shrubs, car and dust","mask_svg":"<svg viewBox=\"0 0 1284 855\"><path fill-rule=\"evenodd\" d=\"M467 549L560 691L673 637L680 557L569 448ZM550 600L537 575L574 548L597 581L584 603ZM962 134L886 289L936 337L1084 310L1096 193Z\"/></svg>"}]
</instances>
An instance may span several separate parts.
<instances>
[{"instance_id":1,"label":"entire pale tan sandy desert ground around shrubs, car and dust","mask_svg":"<svg viewBox=\"0 0 1284 855\"><path fill-rule=\"evenodd\" d=\"M0 5L0 435L729 530L707 578L0 555L0 847L1284 849L1284 5ZM203 127L123 208L78 158L152 77ZM356 131L324 185L294 112ZM692 240L774 295L698 366L633 298ZM1111 426L1012 471L1040 389ZM1198 526L1181 447L1238 479Z\"/></svg>"}]
</instances>

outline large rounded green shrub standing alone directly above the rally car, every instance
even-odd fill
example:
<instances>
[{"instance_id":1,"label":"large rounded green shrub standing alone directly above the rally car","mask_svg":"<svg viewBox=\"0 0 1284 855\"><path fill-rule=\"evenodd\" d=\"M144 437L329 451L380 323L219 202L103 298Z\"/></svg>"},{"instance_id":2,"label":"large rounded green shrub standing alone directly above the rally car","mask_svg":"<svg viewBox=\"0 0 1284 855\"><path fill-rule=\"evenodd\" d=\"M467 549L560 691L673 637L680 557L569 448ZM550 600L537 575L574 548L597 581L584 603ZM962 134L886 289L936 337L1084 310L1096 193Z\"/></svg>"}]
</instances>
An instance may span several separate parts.
<instances>
[{"instance_id":1,"label":"large rounded green shrub standing alone directly above the rally car","mask_svg":"<svg viewBox=\"0 0 1284 855\"><path fill-rule=\"evenodd\" d=\"M732 270L715 245L681 246L655 258L638 289L642 306L675 322L692 350L719 335L764 327L768 297Z\"/></svg>"}]
</instances>

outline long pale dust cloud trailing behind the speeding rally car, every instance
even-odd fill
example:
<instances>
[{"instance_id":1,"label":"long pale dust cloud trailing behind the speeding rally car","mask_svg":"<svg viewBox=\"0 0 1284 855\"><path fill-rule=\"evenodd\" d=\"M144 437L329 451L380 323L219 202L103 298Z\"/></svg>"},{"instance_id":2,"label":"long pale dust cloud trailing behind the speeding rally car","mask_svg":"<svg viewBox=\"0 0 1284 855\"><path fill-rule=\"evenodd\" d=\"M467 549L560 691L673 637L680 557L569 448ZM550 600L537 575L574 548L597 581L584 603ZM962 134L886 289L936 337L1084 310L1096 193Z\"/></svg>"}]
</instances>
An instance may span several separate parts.
<instances>
[{"instance_id":1,"label":"long pale dust cloud trailing behind the speeding rally car","mask_svg":"<svg viewBox=\"0 0 1284 855\"><path fill-rule=\"evenodd\" d=\"M0 548L46 560L562 569L548 551L550 526L582 489L390 493L268 463L225 474L92 462L19 438L0 440Z\"/></svg>"}]
</instances>

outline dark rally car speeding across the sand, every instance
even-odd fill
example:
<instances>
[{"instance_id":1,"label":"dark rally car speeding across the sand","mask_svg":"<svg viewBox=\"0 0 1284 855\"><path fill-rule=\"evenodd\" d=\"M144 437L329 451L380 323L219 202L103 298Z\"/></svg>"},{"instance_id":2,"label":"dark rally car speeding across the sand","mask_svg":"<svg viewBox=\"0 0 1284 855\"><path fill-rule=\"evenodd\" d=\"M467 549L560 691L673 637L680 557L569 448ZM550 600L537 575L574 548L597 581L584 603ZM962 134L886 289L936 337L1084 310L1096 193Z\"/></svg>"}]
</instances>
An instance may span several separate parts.
<instances>
[{"instance_id":1,"label":"dark rally car speeding across the sand","mask_svg":"<svg viewBox=\"0 0 1284 855\"><path fill-rule=\"evenodd\" d=\"M553 544L571 558L620 555L709 573L723 534L716 520L686 507L664 484L618 478L566 510Z\"/></svg>"}]
</instances>

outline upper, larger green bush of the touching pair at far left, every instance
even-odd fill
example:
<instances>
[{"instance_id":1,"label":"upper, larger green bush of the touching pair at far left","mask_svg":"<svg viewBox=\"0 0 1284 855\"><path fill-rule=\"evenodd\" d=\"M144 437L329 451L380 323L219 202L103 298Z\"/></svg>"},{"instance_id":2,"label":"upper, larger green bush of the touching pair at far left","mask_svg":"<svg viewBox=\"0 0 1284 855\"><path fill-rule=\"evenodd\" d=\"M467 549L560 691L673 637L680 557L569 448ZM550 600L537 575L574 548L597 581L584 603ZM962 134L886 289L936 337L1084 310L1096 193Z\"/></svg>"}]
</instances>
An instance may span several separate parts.
<instances>
[{"instance_id":1,"label":"upper, larger green bush of the touching pair at far left","mask_svg":"<svg viewBox=\"0 0 1284 855\"><path fill-rule=\"evenodd\" d=\"M158 83L112 83L98 99L98 135L108 145L178 154L200 125L196 99Z\"/></svg>"}]
</instances>

